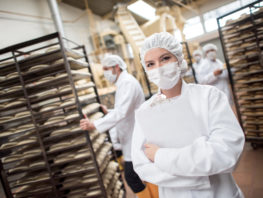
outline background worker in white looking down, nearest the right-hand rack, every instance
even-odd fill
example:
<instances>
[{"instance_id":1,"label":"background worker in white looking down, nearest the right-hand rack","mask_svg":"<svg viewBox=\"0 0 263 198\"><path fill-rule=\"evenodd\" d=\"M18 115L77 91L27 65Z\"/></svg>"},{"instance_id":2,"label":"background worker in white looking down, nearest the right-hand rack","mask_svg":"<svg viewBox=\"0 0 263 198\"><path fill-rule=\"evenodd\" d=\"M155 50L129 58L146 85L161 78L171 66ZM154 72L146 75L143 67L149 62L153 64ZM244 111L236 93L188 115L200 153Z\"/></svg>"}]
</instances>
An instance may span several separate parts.
<instances>
[{"instance_id":1,"label":"background worker in white looking down, nearest the right-hand rack","mask_svg":"<svg viewBox=\"0 0 263 198\"><path fill-rule=\"evenodd\" d=\"M208 43L203 47L205 59L197 72L197 80L200 84L212 85L223 91L228 101L233 105L232 93L228 85L228 72L223 63L216 58L217 47Z\"/></svg>"}]
</instances>

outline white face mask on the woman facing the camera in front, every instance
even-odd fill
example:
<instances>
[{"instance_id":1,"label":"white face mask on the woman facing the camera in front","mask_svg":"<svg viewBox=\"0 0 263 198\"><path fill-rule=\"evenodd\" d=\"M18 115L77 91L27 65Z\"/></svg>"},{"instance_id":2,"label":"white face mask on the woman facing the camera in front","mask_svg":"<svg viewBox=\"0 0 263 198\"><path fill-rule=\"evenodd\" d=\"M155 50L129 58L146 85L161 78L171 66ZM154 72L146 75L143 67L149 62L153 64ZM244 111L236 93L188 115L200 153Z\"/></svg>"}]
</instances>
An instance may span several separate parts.
<instances>
[{"instance_id":1,"label":"white face mask on the woman facing the camera in front","mask_svg":"<svg viewBox=\"0 0 263 198\"><path fill-rule=\"evenodd\" d=\"M180 79L181 70L178 62L168 63L146 72L149 80L159 88L167 90L173 88Z\"/></svg>"}]
</instances>

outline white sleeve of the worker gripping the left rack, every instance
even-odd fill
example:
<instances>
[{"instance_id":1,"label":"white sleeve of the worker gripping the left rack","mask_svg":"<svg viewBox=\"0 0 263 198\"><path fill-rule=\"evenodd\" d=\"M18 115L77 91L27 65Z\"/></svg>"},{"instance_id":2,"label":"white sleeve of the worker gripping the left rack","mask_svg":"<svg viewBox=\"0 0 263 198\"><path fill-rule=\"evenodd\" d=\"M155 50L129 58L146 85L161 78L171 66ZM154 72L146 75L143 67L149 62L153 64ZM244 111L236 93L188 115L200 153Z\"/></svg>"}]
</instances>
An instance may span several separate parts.
<instances>
[{"instance_id":1,"label":"white sleeve of the worker gripping the left rack","mask_svg":"<svg viewBox=\"0 0 263 198\"><path fill-rule=\"evenodd\" d=\"M136 100L136 87L131 82L125 82L117 90L115 106L106 116L94 121L94 125L99 132L105 132L114 127L124 119L133 109Z\"/></svg>"}]
</instances>

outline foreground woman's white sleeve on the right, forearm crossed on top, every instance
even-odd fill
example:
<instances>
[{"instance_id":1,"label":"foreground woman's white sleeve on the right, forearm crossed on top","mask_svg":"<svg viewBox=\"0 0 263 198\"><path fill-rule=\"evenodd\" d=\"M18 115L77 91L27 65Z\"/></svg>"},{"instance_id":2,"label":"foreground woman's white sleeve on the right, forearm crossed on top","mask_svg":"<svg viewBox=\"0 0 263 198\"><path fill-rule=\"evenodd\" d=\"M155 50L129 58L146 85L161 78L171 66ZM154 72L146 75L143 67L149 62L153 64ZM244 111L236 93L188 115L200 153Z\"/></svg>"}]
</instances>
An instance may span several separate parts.
<instances>
[{"instance_id":1,"label":"foreground woman's white sleeve on the right, forearm crossed on top","mask_svg":"<svg viewBox=\"0 0 263 198\"><path fill-rule=\"evenodd\" d=\"M209 134L182 148L159 149L155 165L161 170L178 176L232 172L243 150L244 134L226 95L216 88L212 88L211 92L207 118Z\"/></svg>"}]
</instances>

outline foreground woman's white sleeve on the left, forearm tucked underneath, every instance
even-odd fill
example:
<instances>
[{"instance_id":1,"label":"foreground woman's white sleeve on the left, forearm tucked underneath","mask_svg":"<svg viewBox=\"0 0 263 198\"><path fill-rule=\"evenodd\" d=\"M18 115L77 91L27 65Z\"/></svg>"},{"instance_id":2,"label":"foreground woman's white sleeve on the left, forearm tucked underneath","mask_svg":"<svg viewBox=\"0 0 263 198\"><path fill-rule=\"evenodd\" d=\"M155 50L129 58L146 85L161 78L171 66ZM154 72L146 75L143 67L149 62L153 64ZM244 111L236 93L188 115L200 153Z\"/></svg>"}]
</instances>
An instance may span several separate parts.
<instances>
[{"instance_id":1,"label":"foreground woman's white sleeve on the left, forearm tucked underneath","mask_svg":"<svg viewBox=\"0 0 263 198\"><path fill-rule=\"evenodd\" d=\"M143 181L156 184L160 187L173 187L183 189L204 189L210 187L208 177L181 177L174 176L159 169L144 154L146 139L137 122L132 138L132 163L135 172Z\"/></svg>"}]
</instances>

